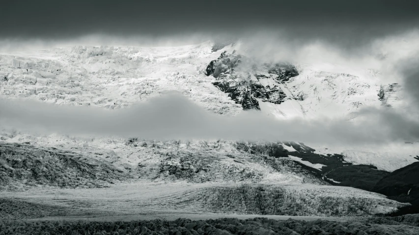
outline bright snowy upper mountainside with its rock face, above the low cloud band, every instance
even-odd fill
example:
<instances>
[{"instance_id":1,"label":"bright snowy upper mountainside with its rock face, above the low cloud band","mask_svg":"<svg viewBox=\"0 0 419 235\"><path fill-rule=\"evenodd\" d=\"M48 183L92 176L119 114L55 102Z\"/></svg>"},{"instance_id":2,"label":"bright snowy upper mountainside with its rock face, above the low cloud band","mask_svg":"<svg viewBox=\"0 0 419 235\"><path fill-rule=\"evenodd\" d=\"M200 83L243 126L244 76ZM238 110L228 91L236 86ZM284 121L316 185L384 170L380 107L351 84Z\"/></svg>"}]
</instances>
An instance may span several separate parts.
<instances>
[{"instance_id":1,"label":"bright snowy upper mountainside with its rock face, above the low cloud band","mask_svg":"<svg viewBox=\"0 0 419 235\"><path fill-rule=\"evenodd\" d=\"M363 106L394 105L400 87L378 71L269 64L240 54L240 44L182 47L71 47L0 56L2 98L127 107L168 90L215 113L260 109L278 118L348 116Z\"/></svg>"}]
</instances>

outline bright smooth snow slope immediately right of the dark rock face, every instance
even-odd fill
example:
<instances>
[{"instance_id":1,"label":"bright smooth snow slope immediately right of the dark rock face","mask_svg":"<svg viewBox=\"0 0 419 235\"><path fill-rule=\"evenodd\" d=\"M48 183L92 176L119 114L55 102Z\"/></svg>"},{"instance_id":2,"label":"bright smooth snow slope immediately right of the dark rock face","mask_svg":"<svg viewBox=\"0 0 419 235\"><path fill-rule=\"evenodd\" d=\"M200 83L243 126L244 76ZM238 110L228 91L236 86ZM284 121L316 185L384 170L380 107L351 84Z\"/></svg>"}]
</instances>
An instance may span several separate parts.
<instances>
[{"instance_id":1,"label":"bright smooth snow slope immediately right of the dark rock face","mask_svg":"<svg viewBox=\"0 0 419 235\"><path fill-rule=\"evenodd\" d=\"M300 68L300 75L285 85L294 96L304 97L299 103L307 117L344 117L362 106L381 105L377 95L381 84L375 73L347 73L347 69L331 64Z\"/></svg>"}]
</instances>

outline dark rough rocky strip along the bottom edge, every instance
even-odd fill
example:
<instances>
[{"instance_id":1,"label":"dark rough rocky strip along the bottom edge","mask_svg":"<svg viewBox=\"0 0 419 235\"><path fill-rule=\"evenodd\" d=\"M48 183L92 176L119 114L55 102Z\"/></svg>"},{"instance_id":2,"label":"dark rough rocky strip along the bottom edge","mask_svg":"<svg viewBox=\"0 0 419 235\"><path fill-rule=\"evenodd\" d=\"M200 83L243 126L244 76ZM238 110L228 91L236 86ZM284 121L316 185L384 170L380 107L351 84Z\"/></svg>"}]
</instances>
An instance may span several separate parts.
<instances>
[{"instance_id":1,"label":"dark rough rocky strip along the bottom edge","mask_svg":"<svg viewBox=\"0 0 419 235\"><path fill-rule=\"evenodd\" d=\"M219 218L174 221L162 219L133 221L12 221L0 222L1 234L184 234L184 235L416 235L419 228L391 219L329 221L317 219L277 220L269 218Z\"/></svg>"}]
</instances>

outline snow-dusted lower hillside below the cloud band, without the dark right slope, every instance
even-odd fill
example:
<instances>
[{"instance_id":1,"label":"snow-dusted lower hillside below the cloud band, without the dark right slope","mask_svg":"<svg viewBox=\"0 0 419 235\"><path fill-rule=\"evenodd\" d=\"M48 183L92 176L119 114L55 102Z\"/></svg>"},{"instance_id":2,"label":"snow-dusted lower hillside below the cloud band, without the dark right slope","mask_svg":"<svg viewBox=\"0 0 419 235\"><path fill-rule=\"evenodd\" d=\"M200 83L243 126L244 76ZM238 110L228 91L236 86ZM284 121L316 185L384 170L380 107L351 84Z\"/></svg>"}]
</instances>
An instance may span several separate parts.
<instances>
[{"instance_id":1,"label":"snow-dusted lower hillside below the cloud band, without the dark right slope","mask_svg":"<svg viewBox=\"0 0 419 235\"><path fill-rule=\"evenodd\" d=\"M270 156L270 151L245 152L245 145L237 143L132 139L107 140L108 149L95 146L103 141L91 141L90 146L78 146L78 140L65 146L0 142L0 200L11 206L0 211L0 218L153 216L162 210L364 216L407 205L377 193L331 186L304 164Z\"/></svg>"}]
</instances>

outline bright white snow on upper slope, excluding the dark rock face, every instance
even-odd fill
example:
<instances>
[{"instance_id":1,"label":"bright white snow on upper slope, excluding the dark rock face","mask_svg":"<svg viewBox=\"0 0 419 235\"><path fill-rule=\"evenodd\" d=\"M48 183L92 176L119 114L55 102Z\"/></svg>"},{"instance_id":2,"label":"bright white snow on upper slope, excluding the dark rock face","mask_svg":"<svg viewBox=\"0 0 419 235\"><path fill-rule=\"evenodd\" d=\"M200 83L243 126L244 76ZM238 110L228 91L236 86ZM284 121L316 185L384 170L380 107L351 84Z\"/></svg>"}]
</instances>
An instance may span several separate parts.
<instances>
[{"instance_id":1,"label":"bright white snow on upper slope, excluding the dark rock face","mask_svg":"<svg viewBox=\"0 0 419 235\"><path fill-rule=\"evenodd\" d=\"M241 111L240 105L214 87L212 77L205 76L203 71L223 50L232 53L241 44L216 52L211 51L212 45L204 42L180 47L77 46L3 53L0 63L14 67L4 71L11 74L11 79L2 82L0 97L115 109L177 90L207 110L236 115ZM28 74L26 69L16 67L20 63L30 67L35 77L53 80L40 82L44 86L41 93L26 92L34 84L17 79ZM288 98L281 104L259 102L262 112L277 118L346 117L362 106L381 105L377 95L382 85L379 72L333 64L301 64L298 68L300 75L285 83L278 83L269 74L269 78L259 79L265 87L279 86ZM391 105L401 100L394 98L399 93L389 95ZM66 99L69 94L75 99Z\"/></svg>"}]
</instances>

